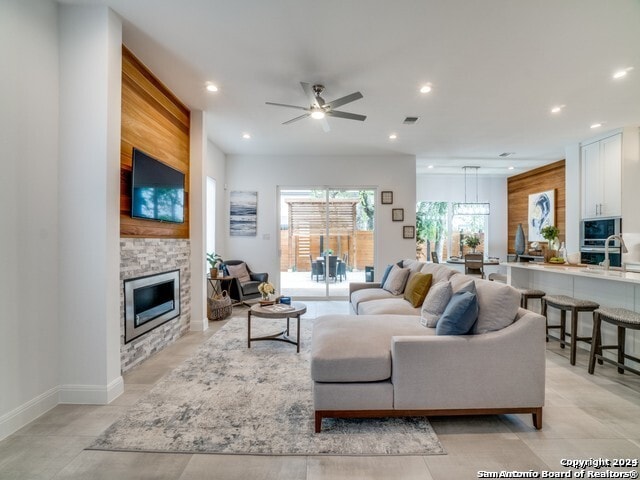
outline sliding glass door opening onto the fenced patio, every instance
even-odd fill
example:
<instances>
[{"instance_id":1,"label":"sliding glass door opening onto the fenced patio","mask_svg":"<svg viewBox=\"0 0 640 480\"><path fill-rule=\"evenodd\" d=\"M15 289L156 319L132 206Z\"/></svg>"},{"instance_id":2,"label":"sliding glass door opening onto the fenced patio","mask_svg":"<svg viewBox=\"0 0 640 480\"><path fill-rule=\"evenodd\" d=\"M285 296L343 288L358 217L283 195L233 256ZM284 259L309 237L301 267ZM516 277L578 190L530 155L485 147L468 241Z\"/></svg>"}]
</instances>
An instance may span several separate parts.
<instances>
[{"instance_id":1,"label":"sliding glass door opening onto the fenced patio","mask_svg":"<svg viewBox=\"0 0 640 480\"><path fill-rule=\"evenodd\" d=\"M346 298L373 265L375 191L280 190L280 290L296 298Z\"/></svg>"}]
</instances>

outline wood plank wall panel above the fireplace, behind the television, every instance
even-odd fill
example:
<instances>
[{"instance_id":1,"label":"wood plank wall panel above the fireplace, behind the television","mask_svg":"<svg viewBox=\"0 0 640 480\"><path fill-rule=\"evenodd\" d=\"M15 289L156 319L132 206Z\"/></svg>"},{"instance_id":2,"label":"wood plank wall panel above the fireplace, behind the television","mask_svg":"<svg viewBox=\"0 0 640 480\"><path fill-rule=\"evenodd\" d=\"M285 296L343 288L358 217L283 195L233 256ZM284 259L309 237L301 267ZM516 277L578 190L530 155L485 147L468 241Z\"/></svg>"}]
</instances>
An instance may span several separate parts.
<instances>
[{"instance_id":1,"label":"wood plank wall panel above the fireplace, behind the television","mask_svg":"<svg viewBox=\"0 0 640 480\"><path fill-rule=\"evenodd\" d=\"M120 236L189 238L189 109L124 45L120 140ZM184 223L131 218L131 154L136 147L185 174Z\"/></svg>"}]
</instances>

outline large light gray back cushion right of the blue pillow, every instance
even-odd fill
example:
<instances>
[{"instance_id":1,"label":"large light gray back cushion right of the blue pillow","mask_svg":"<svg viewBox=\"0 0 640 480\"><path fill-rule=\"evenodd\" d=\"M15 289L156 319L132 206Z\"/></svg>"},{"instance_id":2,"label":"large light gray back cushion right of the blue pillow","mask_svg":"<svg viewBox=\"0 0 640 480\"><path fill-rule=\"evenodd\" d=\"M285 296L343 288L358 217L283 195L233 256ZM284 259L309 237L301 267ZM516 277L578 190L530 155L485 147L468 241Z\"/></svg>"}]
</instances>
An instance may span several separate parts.
<instances>
[{"instance_id":1,"label":"large light gray back cushion right of the blue pillow","mask_svg":"<svg viewBox=\"0 0 640 480\"><path fill-rule=\"evenodd\" d=\"M510 285L489 280L475 281L478 294L478 323L474 333L501 330L511 325L520 307L520 292Z\"/></svg>"}]
</instances>

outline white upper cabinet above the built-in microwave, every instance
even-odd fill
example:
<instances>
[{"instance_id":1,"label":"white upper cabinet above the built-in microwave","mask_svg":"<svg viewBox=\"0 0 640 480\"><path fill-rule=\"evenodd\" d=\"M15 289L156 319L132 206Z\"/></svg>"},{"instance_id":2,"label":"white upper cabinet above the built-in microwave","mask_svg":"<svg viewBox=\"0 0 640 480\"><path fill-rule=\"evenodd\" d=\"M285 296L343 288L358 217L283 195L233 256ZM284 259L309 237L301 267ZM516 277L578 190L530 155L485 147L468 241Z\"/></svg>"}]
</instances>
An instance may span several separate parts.
<instances>
[{"instance_id":1,"label":"white upper cabinet above the built-in microwave","mask_svg":"<svg viewBox=\"0 0 640 480\"><path fill-rule=\"evenodd\" d=\"M582 218L622 215L622 134L580 148Z\"/></svg>"}]
</instances>

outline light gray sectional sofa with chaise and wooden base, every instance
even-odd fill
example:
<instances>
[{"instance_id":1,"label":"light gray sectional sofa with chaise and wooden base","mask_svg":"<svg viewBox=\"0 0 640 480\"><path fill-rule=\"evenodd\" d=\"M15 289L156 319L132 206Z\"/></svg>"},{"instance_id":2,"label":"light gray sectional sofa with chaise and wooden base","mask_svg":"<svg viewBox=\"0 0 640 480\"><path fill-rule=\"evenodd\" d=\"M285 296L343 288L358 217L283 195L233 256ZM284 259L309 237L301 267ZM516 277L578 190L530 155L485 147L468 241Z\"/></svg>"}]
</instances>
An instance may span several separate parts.
<instances>
[{"instance_id":1,"label":"light gray sectional sofa with chaise and wooden base","mask_svg":"<svg viewBox=\"0 0 640 480\"><path fill-rule=\"evenodd\" d=\"M473 281L474 333L436 335L421 307L379 283L350 285L352 315L314 323L311 377L315 429L323 418L530 413L542 428L544 317L520 308L508 285L472 278L439 264L404 260L430 273L432 287L453 292Z\"/></svg>"}]
</instances>

